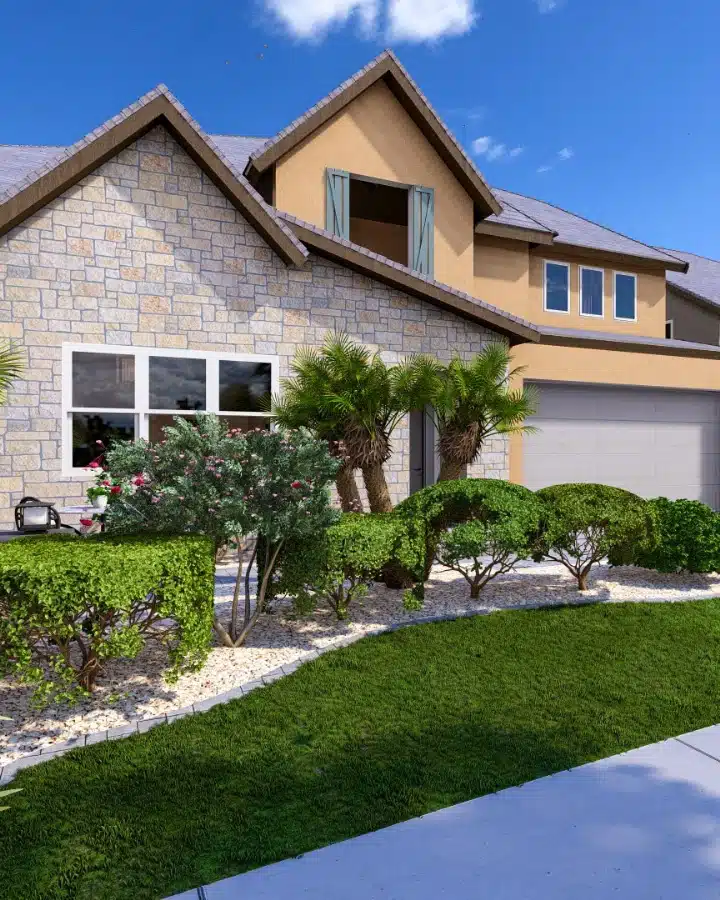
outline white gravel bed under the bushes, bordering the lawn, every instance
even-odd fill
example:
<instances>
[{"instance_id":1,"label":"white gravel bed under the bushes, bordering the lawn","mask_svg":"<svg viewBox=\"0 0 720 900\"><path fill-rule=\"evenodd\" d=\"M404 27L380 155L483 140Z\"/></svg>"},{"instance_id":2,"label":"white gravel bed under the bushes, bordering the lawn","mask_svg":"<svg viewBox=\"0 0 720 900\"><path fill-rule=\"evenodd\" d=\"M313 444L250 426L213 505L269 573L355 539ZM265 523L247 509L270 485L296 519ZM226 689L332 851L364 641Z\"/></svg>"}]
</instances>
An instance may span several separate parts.
<instances>
[{"instance_id":1,"label":"white gravel bed under the bushes, bordering the lawn","mask_svg":"<svg viewBox=\"0 0 720 900\"><path fill-rule=\"evenodd\" d=\"M220 566L216 577L216 606L222 616L229 607L234 584L232 566ZM322 650L349 634L363 634L378 626L411 622L431 615L448 616L477 610L519 609L587 600L598 602L679 601L720 596L720 576L661 575L646 569L598 567L590 589L579 594L575 582L554 563L523 564L500 577L471 600L464 579L438 570L426 586L425 606L407 612L402 591L378 585L351 610L351 620L337 622L326 609L296 618L287 603L280 603L237 650L214 646L201 672L167 685L162 678L164 654L146 648L135 660L108 664L88 702L51 706L38 713L29 706L30 690L0 680L0 766L39 749L51 749L72 737L152 718L220 694L257 679L278 666Z\"/></svg>"}]
</instances>

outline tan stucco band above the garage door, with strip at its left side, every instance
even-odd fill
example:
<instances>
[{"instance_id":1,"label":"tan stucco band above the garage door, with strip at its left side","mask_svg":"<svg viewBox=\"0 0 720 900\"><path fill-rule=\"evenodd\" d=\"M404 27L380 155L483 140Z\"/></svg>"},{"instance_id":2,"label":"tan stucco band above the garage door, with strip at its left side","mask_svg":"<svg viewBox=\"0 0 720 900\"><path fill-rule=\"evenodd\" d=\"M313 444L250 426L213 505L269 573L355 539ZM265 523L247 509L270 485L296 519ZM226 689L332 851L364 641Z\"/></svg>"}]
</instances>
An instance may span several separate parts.
<instances>
[{"instance_id":1,"label":"tan stucco band above the garage door, with strip at its left side","mask_svg":"<svg viewBox=\"0 0 720 900\"><path fill-rule=\"evenodd\" d=\"M520 344L513 362L525 366L529 381L562 381L586 384L720 391L720 359L701 359L592 347L557 347ZM510 480L523 481L523 439L510 439Z\"/></svg>"}]
</instances>

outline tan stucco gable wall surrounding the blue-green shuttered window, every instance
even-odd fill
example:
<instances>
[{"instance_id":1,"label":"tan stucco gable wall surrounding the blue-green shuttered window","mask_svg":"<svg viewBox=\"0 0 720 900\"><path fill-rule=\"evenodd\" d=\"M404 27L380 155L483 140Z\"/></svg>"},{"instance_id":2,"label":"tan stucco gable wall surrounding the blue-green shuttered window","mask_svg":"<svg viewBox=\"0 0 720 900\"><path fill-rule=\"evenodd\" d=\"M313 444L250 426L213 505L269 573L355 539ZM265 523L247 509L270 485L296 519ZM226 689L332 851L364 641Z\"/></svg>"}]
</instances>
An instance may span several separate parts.
<instances>
[{"instance_id":1,"label":"tan stucco gable wall surrounding the blue-green shuttered window","mask_svg":"<svg viewBox=\"0 0 720 900\"><path fill-rule=\"evenodd\" d=\"M276 166L279 209L325 227L325 169L435 190L435 278L473 290L473 202L386 85L378 82Z\"/></svg>"}]
</instances>

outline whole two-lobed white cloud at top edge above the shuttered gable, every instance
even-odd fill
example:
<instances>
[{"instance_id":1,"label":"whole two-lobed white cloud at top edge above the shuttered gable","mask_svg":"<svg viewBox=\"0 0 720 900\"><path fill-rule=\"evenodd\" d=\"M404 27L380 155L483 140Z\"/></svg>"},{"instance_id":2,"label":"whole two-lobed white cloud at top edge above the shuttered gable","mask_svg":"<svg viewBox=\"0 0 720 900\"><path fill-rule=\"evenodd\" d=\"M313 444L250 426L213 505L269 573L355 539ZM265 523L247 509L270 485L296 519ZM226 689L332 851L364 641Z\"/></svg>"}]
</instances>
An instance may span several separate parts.
<instances>
[{"instance_id":1,"label":"whole two-lobed white cloud at top edge above the shuttered gable","mask_svg":"<svg viewBox=\"0 0 720 900\"><path fill-rule=\"evenodd\" d=\"M300 40L322 40L350 21L368 37L386 19L388 40L437 41L466 34L475 24L475 0L262 0L283 27Z\"/></svg>"}]
</instances>

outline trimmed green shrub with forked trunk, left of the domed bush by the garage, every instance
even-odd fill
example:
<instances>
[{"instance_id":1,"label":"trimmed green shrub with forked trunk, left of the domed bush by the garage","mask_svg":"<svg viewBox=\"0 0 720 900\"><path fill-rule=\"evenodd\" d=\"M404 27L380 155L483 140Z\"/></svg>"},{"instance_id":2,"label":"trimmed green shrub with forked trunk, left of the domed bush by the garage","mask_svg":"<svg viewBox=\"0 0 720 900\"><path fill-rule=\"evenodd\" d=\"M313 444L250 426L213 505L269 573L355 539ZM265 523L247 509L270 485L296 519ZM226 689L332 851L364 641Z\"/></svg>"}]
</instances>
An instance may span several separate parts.
<instances>
[{"instance_id":1,"label":"trimmed green shrub with forked trunk, left of the domed bush by the garage","mask_svg":"<svg viewBox=\"0 0 720 900\"><path fill-rule=\"evenodd\" d=\"M478 597L493 578L527 559L540 533L541 504L525 488L504 481L471 489L472 518L440 535L435 559L459 572Z\"/></svg>"}]
</instances>

